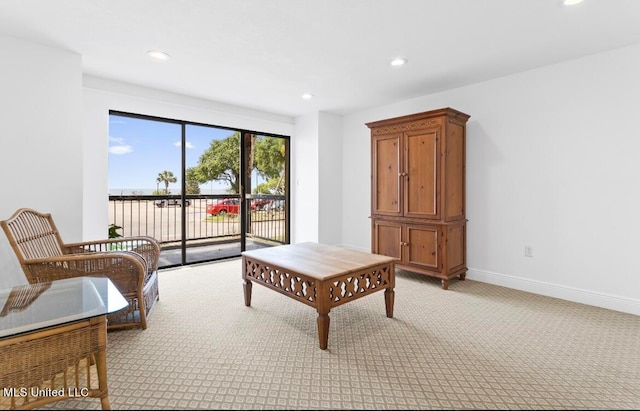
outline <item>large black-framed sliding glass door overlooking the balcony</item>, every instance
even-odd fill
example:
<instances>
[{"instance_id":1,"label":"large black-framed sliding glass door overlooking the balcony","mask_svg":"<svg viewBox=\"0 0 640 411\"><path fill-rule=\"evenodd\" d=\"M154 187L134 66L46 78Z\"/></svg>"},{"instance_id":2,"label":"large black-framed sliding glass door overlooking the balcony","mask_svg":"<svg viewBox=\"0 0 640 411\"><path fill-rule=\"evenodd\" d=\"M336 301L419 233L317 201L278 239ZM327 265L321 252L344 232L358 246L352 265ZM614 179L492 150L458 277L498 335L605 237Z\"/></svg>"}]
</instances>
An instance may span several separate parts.
<instances>
[{"instance_id":1,"label":"large black-framed sliding glass door overlooking the balcony","mask_svg":"<svg viewBox=\"0 0 640 411\"><path fill-rule=\"evenodd\" d=\"M111 112L109 218L161 266L289 242L289 138Z\"/></svg>"}]
</instances>

